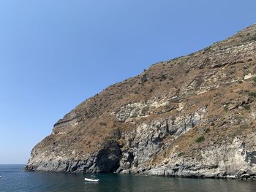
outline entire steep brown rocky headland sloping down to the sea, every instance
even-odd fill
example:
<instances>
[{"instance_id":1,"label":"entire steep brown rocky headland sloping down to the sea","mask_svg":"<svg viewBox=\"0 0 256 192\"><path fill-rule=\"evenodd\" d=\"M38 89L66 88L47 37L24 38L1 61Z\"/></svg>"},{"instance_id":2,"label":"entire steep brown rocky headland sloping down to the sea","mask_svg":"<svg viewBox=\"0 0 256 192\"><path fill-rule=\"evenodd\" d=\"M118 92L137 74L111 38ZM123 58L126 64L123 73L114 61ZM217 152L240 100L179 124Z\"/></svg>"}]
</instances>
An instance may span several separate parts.
<instances>
[{"instance_id":1,"label":"entire steep brown rocky headland sloping down to the sea","mask_svg":"<svg viewBox=\"0 0 256 192\"><path fill-rule=\"evenodd\" d=\"M255 77L252 25L79 104L26 169L255 179Z\"/></svg>"}]
</instances>

